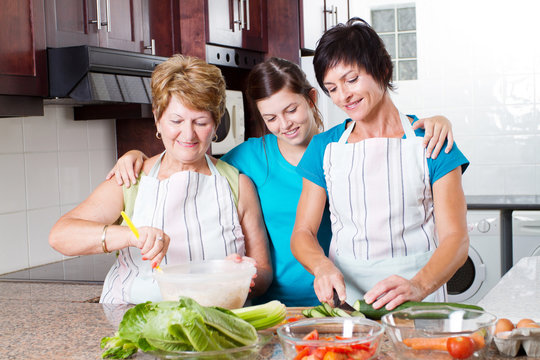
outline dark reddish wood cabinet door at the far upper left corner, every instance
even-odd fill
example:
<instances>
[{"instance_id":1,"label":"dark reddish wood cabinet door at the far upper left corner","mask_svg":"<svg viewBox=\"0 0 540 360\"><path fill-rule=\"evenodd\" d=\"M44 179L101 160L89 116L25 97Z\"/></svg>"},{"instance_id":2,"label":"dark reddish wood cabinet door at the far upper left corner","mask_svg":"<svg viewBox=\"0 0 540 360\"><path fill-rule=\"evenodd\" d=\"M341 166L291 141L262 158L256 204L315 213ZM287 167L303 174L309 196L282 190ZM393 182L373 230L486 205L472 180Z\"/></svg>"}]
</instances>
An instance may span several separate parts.
<instances>
[{"instance_id":1,"label":"dark reddish wood cabinet door at the far upper left corner","mask_svg":"<svg viewBox=\"0 0 540 360\"><path fill-rule=\"evenodd\" d=\"M42 1L0 0L0 94L46 96Z\"/></svg>"}]
</instances>

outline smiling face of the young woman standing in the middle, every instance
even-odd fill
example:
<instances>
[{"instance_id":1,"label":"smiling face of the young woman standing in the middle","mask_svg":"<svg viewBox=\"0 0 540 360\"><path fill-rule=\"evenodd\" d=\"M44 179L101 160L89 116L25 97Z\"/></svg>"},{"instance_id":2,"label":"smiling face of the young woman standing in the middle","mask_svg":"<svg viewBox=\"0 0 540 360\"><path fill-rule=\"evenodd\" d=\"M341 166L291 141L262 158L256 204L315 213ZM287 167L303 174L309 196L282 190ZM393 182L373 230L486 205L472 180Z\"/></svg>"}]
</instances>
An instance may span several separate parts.
<instances>
[{"instance_id":1,"label":"smiling face of the young woman standing in the middle","mask_svg":"<svg viewBox=\"0 0 540 360\"><path fill-rule=\"evenodd\" d=\"M303 95L284 88L257 101L257 108L268 130L278 139L290 145L302 146L307 146L311 141L317 125L313 116L314 108Z\"/></svg>"}]
</instances>

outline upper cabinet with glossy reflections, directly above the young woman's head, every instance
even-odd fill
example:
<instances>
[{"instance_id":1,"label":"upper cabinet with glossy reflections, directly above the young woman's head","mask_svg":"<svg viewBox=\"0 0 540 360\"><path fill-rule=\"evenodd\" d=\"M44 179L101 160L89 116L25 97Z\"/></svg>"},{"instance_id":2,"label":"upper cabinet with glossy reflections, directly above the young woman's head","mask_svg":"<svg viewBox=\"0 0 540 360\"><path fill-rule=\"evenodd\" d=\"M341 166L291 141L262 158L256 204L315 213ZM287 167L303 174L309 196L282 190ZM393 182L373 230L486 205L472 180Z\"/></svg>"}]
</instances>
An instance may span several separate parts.
<instances>
[{"instance_id":1,"label":"upper cabinet with glossy reflections, directly above the young woman's head","mask_svg":"<svg viewBox=\"0 0 540 360\"><path fill-rule=\"evenodd\" d=\"M266 0L207 0L207 43L266 52Z\"/></svg>"}]
</instances>

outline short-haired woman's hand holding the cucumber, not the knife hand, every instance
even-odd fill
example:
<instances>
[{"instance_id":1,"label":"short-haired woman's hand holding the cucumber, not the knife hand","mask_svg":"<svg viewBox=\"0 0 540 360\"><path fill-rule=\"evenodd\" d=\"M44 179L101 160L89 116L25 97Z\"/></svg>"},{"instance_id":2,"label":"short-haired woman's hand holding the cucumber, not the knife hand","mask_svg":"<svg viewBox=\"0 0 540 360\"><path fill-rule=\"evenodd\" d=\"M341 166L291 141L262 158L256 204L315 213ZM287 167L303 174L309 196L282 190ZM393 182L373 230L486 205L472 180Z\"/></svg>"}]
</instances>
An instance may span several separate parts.
<instances>
[{"instance_id":1,"label":"short-haired woman's hand holding the cucumber, not the knife hand","mask_svg":"<svg viewBox=\"0 0 540 360\"><path fill-rule=\"evenodd\" d=\"M387 310L393 310L405 301L422 301L426 296L413 280L392 275L375 284L364 295L364 300L375 309L386 305Z\"/></svg>"}]
</instances>

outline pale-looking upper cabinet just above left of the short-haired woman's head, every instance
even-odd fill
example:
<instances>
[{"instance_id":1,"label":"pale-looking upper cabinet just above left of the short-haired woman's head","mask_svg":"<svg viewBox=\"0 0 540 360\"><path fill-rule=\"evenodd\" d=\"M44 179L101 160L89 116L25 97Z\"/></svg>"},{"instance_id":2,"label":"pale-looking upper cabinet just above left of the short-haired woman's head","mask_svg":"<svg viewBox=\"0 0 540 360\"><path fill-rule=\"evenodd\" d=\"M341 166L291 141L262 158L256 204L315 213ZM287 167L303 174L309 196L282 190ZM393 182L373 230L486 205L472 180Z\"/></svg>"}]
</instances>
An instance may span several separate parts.
<instances>
[{"instance_id":1,"label":"pale-looking upper cabinet just above left of the short-haired woman's head","mask_svg":"<svg viewBox=\"0 0 540 360\"><path fill-rule=\"evenodd\" d=\"M299 0L301 6L300 47L315 50L322 34L349 19L348 0Z\"/></svg>"}]
</instances>

